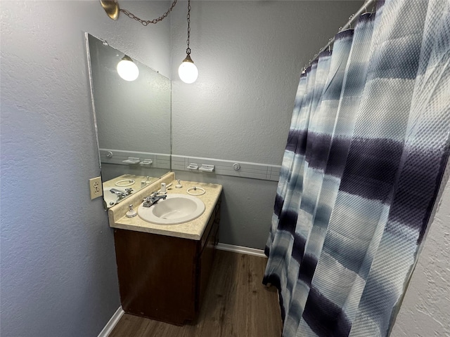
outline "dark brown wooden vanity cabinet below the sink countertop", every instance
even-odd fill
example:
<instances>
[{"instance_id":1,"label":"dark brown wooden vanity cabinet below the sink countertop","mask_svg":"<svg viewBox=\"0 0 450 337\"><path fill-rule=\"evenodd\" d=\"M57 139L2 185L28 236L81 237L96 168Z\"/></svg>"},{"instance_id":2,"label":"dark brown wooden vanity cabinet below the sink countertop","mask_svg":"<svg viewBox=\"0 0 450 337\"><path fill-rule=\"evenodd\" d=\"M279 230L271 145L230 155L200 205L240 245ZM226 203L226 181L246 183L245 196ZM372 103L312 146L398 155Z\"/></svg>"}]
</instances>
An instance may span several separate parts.
<instances>
[{"instance_id":1,"label":"dark brown wooden vanity cabinet below the sink countertop","mask_svg":"<svg viewBox=\"0 0 450 337\"><path fill-rule=\"evenodd\" d=\"M114 230L124 312L176 325L197 317L218 242L220 199L200 240Z\"/></svg>"}]
</instances>

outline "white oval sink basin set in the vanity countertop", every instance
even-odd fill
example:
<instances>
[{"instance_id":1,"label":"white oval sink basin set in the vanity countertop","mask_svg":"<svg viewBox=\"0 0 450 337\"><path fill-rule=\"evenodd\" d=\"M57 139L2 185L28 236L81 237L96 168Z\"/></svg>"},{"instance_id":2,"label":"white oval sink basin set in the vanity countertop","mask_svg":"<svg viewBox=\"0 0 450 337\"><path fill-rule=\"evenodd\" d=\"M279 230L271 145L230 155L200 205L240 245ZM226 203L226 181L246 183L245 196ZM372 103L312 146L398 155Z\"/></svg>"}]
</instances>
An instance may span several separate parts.
<instances>
[{"instance_id":1,"label":"white oval sink basin set in the vanity countertop","mask_svg":"<svg viewBox=\"0 0 450 337\"><path fill-rule=\"evenodd\" d=\"M187 223L203 214L205 204L197 197L188 194L167 194L150 207L142 204L138 207L138 216L142 220L157 225L176 225Z\"/></svg>"}]
</instances>

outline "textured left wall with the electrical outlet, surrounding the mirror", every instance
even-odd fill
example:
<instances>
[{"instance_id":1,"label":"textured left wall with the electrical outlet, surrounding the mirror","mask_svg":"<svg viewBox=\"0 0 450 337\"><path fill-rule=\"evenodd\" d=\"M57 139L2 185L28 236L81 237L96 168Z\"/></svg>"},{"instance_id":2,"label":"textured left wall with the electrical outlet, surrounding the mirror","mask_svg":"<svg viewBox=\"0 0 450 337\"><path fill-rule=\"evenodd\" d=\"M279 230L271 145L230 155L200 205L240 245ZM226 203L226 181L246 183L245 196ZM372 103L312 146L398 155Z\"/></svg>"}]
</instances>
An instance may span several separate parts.
<instances>
[{"instance_id":1,"label":"textured left wall with the electrical outlet, surrounding the mirror","mask_svg":"<svg viewBox=\"0 0 450 337\"><path fill-rule=\"evenodd\" d=\"M152 17L167 1L127 1ZM169 75L169 20L99 1L1 1L2 337L97 336L120 305L101 199L84 32Z\"/></svg>"}]
</instances>

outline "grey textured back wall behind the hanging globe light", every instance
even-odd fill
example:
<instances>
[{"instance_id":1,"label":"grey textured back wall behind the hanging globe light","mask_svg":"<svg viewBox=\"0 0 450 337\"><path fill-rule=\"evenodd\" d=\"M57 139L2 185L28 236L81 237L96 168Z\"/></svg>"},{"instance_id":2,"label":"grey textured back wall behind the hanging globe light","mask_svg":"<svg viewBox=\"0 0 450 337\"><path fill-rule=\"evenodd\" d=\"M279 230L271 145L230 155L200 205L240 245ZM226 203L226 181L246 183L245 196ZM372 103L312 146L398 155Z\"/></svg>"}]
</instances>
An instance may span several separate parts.
<instances>
[{"instance_id":1,"label":"grey textured back wall behind the hanging globe light","mask_svg":"<svg viewBox=\"0 0 450 337\"><path fill-rule=\"evenodd\" d=\"M186 3L172 13L172 153L281 164L302 67L362 1L193 1L184 84ZM224 185L220 242L264 249L276 183L176 173Z\"/></svg>"}]
</instances>

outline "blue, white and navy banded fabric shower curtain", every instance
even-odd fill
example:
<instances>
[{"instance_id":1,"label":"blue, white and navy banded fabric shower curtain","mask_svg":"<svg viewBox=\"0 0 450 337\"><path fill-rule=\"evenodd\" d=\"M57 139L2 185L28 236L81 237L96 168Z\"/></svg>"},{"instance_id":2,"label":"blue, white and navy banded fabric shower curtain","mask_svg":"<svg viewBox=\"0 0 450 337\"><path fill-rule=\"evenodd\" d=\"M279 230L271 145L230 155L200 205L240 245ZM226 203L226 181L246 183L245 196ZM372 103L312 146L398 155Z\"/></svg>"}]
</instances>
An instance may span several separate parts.
<instances>
[{"instance_id":1,"label":"blue, white and navy banded fabric shower curtain","mask_svg":"<svg viewBox=\"0 0 450 337\"><path fill-rule=\"evenodd\" d=\"M378 1L300 77L263 281L283 336L389 335L446 180L449 11Z\"/></svg>"}]
</instances>

